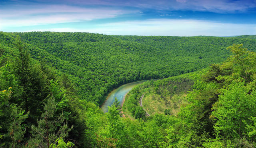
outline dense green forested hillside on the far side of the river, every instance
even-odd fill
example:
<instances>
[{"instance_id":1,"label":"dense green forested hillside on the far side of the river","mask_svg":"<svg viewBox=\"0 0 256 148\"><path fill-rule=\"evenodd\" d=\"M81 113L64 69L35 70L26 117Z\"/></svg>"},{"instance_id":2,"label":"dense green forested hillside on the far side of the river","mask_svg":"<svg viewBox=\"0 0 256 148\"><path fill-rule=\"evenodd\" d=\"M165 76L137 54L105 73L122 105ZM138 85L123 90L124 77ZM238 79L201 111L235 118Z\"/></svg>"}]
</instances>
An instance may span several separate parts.
<instances>
[{"instance_id":1,"label":"dense green forested hillside on the far side of the river","mask_svg":"<svg viewBox=\"0 0 256 148\"><path fill-rule=\"evenodd\" d=\"M16 35L36 60L46 61L58 75L75 83L80 98L101 104L110 90L138 80L193 72L229 55L226 47L256 41L222 37L110 36L94 33L0 32L6 56L16 54Z\"/></svg>"}]
</instances>

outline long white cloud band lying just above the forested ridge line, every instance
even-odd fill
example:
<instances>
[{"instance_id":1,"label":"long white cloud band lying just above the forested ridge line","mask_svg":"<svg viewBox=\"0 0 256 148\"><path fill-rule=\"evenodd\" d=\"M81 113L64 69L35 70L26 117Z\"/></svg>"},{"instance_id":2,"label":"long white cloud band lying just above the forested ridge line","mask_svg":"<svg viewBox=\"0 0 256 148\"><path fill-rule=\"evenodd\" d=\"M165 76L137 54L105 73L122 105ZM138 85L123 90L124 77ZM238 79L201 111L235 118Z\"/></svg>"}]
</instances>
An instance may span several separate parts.
<instances>
[{"instance_id":1,"label":"long white cloud band lying just above the forested ridge line","mask_svg":"<svg viewBox=\"0 0 256 148\"><path fill-rule=\"evenodd\" d=\"M52 28L27 31L91 32L107 35L229 36L256 34L256 25L193 19L148 19L96 25L93 29Z\"/></svg>"}]
</instances>

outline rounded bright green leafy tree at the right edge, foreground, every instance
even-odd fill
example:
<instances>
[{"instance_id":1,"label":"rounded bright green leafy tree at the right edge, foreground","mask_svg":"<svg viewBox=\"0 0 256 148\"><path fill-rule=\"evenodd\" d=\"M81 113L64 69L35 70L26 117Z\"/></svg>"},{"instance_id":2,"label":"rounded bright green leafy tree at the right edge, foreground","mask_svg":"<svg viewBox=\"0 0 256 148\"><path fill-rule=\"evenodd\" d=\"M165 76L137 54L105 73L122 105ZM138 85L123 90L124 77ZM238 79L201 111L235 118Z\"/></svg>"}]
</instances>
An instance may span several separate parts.
<instances>
[{"instance_id":1,"label":"rounded bright green leafy tree at the right edge, foreground","mask_svg":"<svg viewBox=\"0 0 256 148\"><path fill-rule=\"evenodd\" d=\"M256 115L255 94L248 93L250 88L245 82L233 82L223 90L212 109L211 117L218 119L214 125L216 133L225 138L242 138L247 134L246 124L249 117Z\"/></svg>"}]
</instances>

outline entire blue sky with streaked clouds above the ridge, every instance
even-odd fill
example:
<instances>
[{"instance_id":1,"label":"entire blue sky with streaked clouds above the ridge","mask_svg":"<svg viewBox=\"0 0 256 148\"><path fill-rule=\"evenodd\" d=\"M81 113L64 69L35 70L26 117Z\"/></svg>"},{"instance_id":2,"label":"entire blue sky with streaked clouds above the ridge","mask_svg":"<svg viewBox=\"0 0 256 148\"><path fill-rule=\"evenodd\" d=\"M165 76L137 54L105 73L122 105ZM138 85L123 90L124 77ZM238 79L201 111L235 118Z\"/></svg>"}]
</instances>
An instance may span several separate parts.
<instances>
[{"instance_id":1,"label":"entire blue sky with streaked clouds above the ridge","mask_svg":"<svg viewBox=\"0 0 256 148\"><path fill-rule=\"evenodd\" d=\"M256 0L0 0L0 31L256 34Z\"/></svg>"}]
</instances>

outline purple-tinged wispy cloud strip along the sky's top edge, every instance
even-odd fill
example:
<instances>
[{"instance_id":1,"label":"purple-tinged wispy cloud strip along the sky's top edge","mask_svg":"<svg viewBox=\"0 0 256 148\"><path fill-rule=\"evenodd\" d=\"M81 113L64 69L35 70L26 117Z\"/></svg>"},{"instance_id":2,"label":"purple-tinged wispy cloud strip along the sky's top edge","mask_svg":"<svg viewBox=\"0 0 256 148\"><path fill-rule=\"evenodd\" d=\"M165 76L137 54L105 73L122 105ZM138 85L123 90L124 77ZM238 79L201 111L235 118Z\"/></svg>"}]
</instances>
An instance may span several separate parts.
<instances>
[{"instance_id":1,"label":"purple-tinged wispy cloud strip along the sky's top edge","mask_svg":"<svg viewBox=\"0 0 256 148\"><path fill-rule=\"evenodd\" d=\"M17 0L16 4L26 3ZM256 0L35 0L46 4L67 4L79 6L115 6L150 8L160 10L193 10L217 13L232 13L256 8Z\"/></svg>"}]
</instances>

